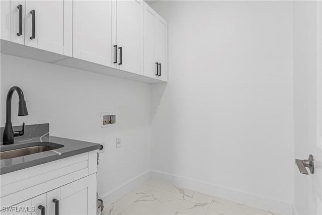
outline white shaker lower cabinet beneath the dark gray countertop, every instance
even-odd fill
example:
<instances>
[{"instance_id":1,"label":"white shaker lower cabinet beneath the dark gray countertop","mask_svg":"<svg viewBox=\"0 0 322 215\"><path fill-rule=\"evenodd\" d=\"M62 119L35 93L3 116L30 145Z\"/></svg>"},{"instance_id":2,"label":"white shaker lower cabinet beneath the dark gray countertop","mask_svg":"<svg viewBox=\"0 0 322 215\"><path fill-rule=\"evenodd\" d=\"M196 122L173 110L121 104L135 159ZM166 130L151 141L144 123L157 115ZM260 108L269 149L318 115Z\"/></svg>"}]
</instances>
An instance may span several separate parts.
<instances>
[{"instance_id":1,"label":"white shaker lower cabinet beneath the dark gray countertop","mask_svg":"<svg viewBox=\"0 0 322 215\"><path fill-rule=\"evenodd\" d=\"M4 174L0 213L96 214L96 172L92 151Z\"/></svg>"}]
</instances>

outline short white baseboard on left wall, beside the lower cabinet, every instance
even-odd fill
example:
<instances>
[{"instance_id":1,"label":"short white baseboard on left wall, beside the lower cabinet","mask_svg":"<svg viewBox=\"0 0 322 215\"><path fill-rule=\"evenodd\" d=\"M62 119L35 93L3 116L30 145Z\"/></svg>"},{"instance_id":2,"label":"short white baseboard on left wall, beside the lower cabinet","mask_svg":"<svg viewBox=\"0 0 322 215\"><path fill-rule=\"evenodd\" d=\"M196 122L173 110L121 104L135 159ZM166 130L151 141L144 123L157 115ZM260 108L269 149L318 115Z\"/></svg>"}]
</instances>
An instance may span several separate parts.
<instances>
[{"instance_id":1,"label":"short white baseboard on left wall, beside the lower cabinet","mask_svg":"<svg viewBox=\"0 0 322 215\"><path fill-rule=\"evenodd\" d=\"M109 193L106 193L102 196L102 199L104 201L105 206L109 206L116 200L120 199L124 195L131 192L136 187L140 186L144 182L150 179L150 171L146 171L142 173L141 175L138 175L137 177L131 179L130 181L122 184L121 186L115 188Z\"/></svg>"}]
</instances>

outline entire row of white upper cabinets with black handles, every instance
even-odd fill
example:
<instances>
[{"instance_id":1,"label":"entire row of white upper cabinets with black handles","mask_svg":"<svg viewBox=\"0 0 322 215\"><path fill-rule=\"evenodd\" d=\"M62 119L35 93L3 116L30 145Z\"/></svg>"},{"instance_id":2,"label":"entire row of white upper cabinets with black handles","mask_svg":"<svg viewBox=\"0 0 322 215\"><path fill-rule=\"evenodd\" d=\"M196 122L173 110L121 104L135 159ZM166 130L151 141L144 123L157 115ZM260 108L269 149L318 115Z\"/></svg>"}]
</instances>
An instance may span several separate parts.
<instances>
[{"instance_id":1,"label":"entire row of white upper cabinets with black handles","mask_svg":"<svg viewBox=\"0 0 322 215\"><path fill-rule=\"evenodd\" d=\"M2 53L146 83L168 81L168 23L142 0L0 4Z\"/></svg>"}]
</instances>

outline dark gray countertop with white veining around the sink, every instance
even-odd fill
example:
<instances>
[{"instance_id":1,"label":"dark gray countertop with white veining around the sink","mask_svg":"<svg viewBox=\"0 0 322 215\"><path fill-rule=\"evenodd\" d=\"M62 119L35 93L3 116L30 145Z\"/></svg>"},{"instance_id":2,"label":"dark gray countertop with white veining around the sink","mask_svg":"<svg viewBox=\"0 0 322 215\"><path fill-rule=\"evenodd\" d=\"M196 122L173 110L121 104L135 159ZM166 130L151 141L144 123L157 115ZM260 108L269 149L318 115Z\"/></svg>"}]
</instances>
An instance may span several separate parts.
<instances>
[{"instance_id":1,"label":"dark gray countertop with white veining around the sink","mask_svg":"<svg viewBox=\"0 0 322 215\"><path fill-rule=\"evenodd\" d=\"M21 156L17 158L3 159L1 160L0 174L6 174L14 172L17 170L25 169L28 167L33 167L36 165L48 163L51 161L59 160L62 158L67 158L70 156L90 152L93 150L100 149L100 144L95 144L94 142L86 142L75 139L67 139L56 136L45 135L42 137L31 138L26 140L19 140L15 142L15 146L27 144L29 142L52 142L54 144L64 145L64 147L50 150L46 152L35 153L31 155ZM1 146L2 150L8 146Z\"/></svg>"}]
</instances>

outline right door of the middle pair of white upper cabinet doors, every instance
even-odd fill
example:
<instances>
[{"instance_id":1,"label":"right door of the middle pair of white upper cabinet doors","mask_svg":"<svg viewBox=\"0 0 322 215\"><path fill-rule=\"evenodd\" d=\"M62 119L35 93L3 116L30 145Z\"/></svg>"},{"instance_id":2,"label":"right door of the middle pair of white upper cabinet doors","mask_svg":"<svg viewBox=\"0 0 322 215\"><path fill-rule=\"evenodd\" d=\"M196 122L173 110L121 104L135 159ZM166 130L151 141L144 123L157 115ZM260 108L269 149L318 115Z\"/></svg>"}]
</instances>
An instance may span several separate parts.
<instances>
[{"instance_id":1,"label":"right door of the middle pair of white upper cabinet doors","mask_svg":"<svg viewBox=\"0 0 322 215\"><path fill-rule=\"evenodd\" d=\"M116 7L113 45L118 46L115 67L143 75L143 1L117 0L113 4Z\"/></svg>"}]
</instances>

